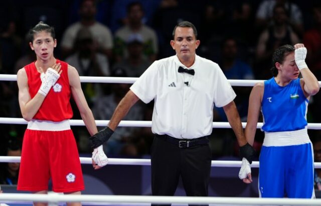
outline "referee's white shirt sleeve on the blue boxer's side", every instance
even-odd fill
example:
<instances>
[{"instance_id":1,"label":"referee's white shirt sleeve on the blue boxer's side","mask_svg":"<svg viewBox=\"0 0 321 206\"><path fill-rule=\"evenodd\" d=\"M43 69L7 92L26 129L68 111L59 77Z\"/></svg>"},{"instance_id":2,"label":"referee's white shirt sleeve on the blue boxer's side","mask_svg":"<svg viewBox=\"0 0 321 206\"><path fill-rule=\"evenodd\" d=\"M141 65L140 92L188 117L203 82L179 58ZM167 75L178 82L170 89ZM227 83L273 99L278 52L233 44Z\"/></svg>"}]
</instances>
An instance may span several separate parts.
<instances>
[{"instance_id":1,"label":"referee's white shirt sleeve on the blue boxer's side","mask_svg":"<svg viewBox=\"0 0 321 206\"><path fill-rule=\"evenodd\" d=\"M236 94L228 82L227 78L223 74L221 68L218 67L218 72L216 75L216 85L215 85L215 93L214 93L214 104L216 107L224 107L228 103L234 100Z\"/></svg>"}]
</instances>

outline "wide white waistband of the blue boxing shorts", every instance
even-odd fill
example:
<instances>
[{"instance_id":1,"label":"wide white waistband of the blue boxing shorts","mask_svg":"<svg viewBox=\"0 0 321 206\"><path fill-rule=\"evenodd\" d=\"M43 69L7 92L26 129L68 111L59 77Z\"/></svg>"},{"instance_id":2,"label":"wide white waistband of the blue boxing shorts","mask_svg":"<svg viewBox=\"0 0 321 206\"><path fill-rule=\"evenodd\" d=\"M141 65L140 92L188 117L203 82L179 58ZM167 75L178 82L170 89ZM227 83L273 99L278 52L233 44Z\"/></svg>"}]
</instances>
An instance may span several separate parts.
<instances>
[{"instance_id":1,"label":"wide white waistband of the blue boxing shorts","mask_svg":"<svg viewBox=\"0 0 321 206\"><path fill-rule=\"evenodd\" d=\"M285 132L265 132L263 146L291 146L310 143L307 129Z\"/></svg>"}]
</instances>

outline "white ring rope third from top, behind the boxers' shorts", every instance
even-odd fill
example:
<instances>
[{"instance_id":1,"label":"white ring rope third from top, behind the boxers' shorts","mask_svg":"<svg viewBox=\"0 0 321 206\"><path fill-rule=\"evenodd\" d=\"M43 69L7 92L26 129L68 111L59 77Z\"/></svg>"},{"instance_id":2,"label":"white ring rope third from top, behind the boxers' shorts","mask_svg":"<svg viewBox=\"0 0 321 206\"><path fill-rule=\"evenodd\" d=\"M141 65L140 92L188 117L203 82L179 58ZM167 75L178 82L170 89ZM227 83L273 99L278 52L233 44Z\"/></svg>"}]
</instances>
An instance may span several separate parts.
<instances>
[{"instance_id":1,"label":"white ring rope third from top, behind the boxers' shorts","mask_svg":"<svg viewBox=\"0 0 321 206\"><path fill-rule=\"evenodd\" d=\"M0 156L0 162L20 162L20 156ZM80 163L92 164L90 157L80 157ZM110 165L150 165L150 159L108 158ZM242 161L212 160L212 167L241 167ZM252 168L258 168L259 162L253 161ZM321 162L314 162L314 168L321 168Z\"/></svg>"}]
</instances>

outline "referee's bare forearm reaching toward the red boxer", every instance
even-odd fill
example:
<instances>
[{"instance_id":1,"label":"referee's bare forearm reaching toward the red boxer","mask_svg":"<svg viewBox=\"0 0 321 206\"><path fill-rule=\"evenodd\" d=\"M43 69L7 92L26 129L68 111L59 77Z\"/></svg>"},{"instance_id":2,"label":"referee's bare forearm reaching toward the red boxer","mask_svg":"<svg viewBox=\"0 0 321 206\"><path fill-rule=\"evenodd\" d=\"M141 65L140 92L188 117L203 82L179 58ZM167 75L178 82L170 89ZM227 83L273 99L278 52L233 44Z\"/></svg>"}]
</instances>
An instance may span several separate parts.
<instances>
[{"instance_id":1,"label":"referee's bare forearm reaching toward the red boxer","mask_svg":"<svg viewBox=\"0 0 321 206\"><path fill-rule=\"evenodd\" d=\"M126 116L129 109L139 100L139 98L129 90L124 98L119 102L118 106L116 107L108 127L115 131L116 127L118 126L119 122Z\"/></svg>"}]
</instances>

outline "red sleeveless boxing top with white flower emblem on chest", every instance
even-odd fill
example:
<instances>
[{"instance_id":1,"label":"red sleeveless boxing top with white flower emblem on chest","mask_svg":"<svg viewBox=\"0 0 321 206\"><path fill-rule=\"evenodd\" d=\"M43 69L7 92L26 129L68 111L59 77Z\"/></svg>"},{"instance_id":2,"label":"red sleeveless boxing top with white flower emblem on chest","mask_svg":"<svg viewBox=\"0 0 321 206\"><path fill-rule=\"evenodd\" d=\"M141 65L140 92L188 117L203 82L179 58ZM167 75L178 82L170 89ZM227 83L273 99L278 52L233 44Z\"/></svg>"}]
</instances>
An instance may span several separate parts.
<instances>
[{"instance_id":1,"label":"red sleeveless boxing top with white flower emblem on chest","mask_svg":"<svg viewBox=\"0 0 321 206\"><path fill-rule=\"evenodd\" d=\"M60 78L50 89L33 119L60 122L72 118L73 113L70 105L71 89L68 78L68 64L60 60L57 60L56 62L61 63L62 73ZM33 98L37 94L42 83L40 73L37 71L35 62L24 68L27 72L29 93L31 98Z\"/></svg>"}]
</instances>

